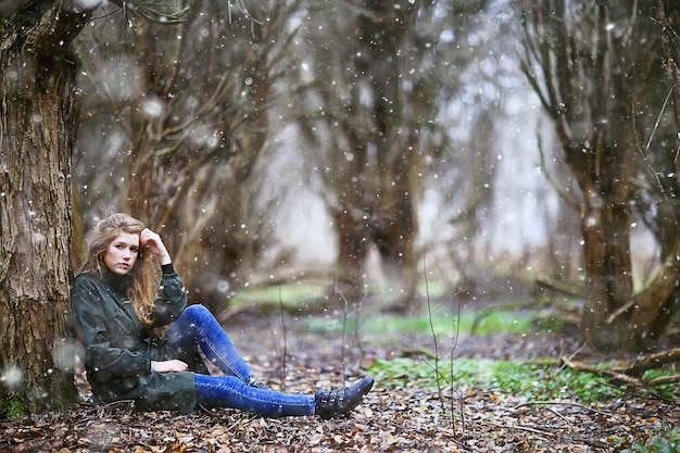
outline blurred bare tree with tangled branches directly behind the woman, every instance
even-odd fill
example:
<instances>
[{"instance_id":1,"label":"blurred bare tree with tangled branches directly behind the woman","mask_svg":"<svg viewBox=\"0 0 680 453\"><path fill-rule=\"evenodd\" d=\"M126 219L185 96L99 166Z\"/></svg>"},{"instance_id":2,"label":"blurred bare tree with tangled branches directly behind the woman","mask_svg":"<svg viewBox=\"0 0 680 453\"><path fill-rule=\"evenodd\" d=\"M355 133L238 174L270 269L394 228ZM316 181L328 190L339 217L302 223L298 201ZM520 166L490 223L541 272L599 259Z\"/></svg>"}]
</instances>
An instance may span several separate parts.
<instances>
[{"instance_id":1,"label":"blurred bare tree with tangled branches directly behind the woman","mask_svg":"<svg viewBox=\"0 0 680 453\"><path fill-rule=\"evenodd\" d=\"M110 205L165 236L187 288L215 313L268 244L251 178L268 148L272 86L287 71L287 17L297 8L202 1L171 26L133 23L121 10L106 27L124 37L118 48L97 29L79 41L91 86L105 87L85 99L83 121L95 134L84 131L84 148L102 127L89 118L114 118L109 135L122 137L106 143L125 175L123 200Z\"/></svg>"}]
</instances>

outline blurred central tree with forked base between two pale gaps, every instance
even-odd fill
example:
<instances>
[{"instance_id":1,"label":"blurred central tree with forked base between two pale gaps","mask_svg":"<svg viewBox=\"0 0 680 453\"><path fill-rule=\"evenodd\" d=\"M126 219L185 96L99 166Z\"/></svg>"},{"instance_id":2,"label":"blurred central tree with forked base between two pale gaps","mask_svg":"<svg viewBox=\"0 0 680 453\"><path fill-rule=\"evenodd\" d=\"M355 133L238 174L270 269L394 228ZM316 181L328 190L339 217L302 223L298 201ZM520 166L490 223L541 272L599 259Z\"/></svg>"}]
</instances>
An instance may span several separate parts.
<instances>
[{"instance_id":1,"label":"blurred central tree with forked base between two pale gaps","mask_svg":"<svg viewBox=\"0 0 680 453\"><path fill-rule=\"evenodd\" d=\"M365 263L375 249L386 277L387 306L408 310L416 281L416 205L423 124L410 128L405 104L423 122L418 105L428 104L418 85L410 50L424 2L324 2L310 8L294 56L300 83L292 118L314 150L319 191L338 236L341 298L365 290ZM417 38L415 38L417 39ZM310 46L318 43L317 46ZM423 42L420 42L423 43ZM418 50L419 51L419 50ZM419 56L419 55L418 55ZM425 113L426 117L428 113Z\"/></svg>"}]
</instances>

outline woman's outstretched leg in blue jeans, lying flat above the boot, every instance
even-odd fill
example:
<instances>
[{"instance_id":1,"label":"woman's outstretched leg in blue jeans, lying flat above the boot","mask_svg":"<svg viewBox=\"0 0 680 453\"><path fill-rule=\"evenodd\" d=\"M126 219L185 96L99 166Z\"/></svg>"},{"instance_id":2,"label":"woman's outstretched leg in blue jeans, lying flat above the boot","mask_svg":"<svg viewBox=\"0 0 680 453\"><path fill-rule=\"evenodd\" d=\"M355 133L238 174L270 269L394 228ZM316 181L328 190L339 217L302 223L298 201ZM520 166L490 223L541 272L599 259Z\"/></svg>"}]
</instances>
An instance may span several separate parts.
<instances>
[{"instance_id":1,"label":"woman's outstretched leg in blue jeans, lying flat above the boot","mask_svg":"<svg viewBox=\"0 0 680 453\"><path fill-rule=\"evenodd\" d=\"M235 376L194 376L197 401L204 407L231 407L265 417L314 414L314 397L257 389Z\"/></svg>"}]
</instances>

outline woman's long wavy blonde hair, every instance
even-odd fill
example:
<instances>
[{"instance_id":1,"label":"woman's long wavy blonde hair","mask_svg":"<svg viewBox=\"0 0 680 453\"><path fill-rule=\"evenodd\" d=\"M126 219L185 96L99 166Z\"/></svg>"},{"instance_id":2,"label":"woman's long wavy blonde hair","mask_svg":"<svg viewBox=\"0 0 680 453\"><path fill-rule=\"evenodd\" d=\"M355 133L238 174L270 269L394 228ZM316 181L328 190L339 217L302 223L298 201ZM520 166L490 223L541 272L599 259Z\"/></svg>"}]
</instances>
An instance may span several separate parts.
<instances>
[{"instance_id":1,"label":"woman's long wavy blonde hair","mask_svg":"<svg viewBox=\"0 0 680 453\"><path fill-rule=\"evenodd\" d=\"M87 257L80 266L80 274L90 274L103 278L103 256L109 244L122 232L139 235L144 228L146 225L142 222L123 213L115 213L100 221L88 234ZM150 325L153 323L152 314L155 310L154 300L159 287L159 272L146 248L139 248L137 262L128 275L131 277L131 284L127 288L127 297L139 320Z\"/></svg>"}]
</instances>

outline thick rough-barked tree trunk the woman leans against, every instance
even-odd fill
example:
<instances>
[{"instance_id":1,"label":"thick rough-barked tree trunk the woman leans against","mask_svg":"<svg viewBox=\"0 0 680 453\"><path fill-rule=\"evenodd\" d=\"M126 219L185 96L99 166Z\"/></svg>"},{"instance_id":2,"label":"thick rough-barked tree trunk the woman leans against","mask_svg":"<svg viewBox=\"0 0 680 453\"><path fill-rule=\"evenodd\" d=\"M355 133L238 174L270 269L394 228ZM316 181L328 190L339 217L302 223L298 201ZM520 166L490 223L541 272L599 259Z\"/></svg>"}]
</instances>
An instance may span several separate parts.
<instances>
[{"instance_id":1,"label":"thick rough-barked tree trunk the woman leans against","mask_svg":"<svg viewBox=\"0 0 680 453\"><path fill-rule=\"evenodd\" d=\"M64 407L76 394L68 369L75 63L67 49L88 17L62 1L38 3L3 22L0 46L0 399L17 398L32 412Z\"/></svg>"}]
</instances>

